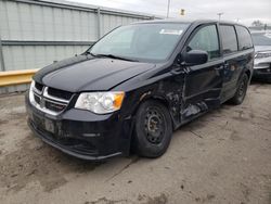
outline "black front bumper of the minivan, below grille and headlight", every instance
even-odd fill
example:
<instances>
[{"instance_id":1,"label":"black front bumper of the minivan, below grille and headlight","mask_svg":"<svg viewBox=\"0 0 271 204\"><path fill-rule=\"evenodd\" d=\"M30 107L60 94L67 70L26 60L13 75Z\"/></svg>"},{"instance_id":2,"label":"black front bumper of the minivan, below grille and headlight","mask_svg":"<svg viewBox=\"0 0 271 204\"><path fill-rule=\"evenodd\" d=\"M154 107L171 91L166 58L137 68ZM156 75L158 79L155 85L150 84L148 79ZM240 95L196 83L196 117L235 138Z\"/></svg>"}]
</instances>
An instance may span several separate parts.
<instances>
[{"instance_id":1,"label":"black front bumper of the minivan, below grille and headlight","mask_svg":"<svg viewBox=\"0 0 271 204\"><path fill-rule=\"evenodd\" d=\"M129 154L132 119L121 119L120 113L69 109L52 116L33 106L28 93L26 109L34 133L64 153L89 161Z\"/></svg>"}]
</instances>

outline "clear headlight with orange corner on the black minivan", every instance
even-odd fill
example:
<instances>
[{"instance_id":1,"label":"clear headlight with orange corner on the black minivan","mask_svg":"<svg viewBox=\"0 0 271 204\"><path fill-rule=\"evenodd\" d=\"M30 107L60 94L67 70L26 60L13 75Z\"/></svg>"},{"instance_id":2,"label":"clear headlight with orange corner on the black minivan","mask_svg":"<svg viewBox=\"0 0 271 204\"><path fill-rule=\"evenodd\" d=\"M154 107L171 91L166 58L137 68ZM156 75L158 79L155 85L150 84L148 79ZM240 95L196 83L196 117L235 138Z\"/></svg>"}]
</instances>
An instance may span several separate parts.
<instances>
[{"instance_id":1,"label":"clear headlight with orange corner on the black minivan","mask_svg":"<svg viewBox=\"0 0 271 204\"><path fill-rule=\"evenodd\" d=\"M76 109L89 110L96 114L112 113L121 107L125 92L86 92L75 104Z\"/></svg>"}]
</instances>

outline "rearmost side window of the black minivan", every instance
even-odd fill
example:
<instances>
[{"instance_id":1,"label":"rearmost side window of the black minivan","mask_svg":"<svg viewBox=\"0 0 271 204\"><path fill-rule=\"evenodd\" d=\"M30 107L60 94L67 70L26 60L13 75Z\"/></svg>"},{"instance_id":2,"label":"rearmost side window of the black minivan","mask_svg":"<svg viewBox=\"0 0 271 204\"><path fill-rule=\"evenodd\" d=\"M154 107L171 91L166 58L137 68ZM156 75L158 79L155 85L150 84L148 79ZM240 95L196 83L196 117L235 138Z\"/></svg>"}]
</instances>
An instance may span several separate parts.
<instances>
[{"instance_id":1,"label":"rearmost side window of the black minivan","mask_svg":"<svg viewBox=\"0 0 271 204\"><path fill-rule=\"evenodd\" d=\"M253 40L249 31L242 26L236 26L240 50L253 48Z\"/></svg>"}]
</instances>

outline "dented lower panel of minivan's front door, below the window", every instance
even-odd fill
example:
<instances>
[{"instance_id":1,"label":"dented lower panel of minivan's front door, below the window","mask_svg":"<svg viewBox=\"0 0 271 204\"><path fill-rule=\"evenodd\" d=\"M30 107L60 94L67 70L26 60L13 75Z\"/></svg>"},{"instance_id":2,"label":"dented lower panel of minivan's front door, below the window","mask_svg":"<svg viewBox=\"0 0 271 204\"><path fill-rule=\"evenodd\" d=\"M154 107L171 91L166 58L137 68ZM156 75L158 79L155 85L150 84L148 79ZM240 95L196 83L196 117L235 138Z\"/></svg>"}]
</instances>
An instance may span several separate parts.
<instances>
[{"instance_id":1,"label":"dented lower panel of minivan's front door, below the window","mask_svg":"<svg viewBox=\"0 0 271 204\"><path fill-rule=\"evenodd\" d=\"M181 112L183 123L220 105L222 76L222 60L189 68L184 78L183 107Z\"/></svg>"}]
</instances>

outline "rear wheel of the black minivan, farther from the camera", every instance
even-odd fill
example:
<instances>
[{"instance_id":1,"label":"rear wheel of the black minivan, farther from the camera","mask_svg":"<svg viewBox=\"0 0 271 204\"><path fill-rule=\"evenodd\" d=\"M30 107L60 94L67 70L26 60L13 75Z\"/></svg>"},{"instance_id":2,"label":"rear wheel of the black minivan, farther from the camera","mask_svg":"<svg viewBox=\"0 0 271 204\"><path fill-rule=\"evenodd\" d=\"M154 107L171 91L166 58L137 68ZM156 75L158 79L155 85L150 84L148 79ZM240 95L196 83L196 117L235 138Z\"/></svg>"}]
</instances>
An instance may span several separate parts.
<instances>
[{"instance_id":1,"label":"rear wheel of the black minivan, farther from the camera","mask_svg":"<svg viewBox=\"0 0 271 204\"><path fill-rule=\"evenodd\" d=\"M237 90L234 94L234 97L230 100L230 102L234 105L240 105L241 103L243 103L245 97L246 97L246 91L248 88L248 76L247 74L244 74L238 82L238 87Z\"/></svg>"}]
</instances>

